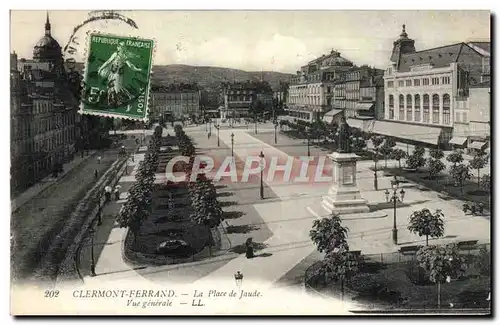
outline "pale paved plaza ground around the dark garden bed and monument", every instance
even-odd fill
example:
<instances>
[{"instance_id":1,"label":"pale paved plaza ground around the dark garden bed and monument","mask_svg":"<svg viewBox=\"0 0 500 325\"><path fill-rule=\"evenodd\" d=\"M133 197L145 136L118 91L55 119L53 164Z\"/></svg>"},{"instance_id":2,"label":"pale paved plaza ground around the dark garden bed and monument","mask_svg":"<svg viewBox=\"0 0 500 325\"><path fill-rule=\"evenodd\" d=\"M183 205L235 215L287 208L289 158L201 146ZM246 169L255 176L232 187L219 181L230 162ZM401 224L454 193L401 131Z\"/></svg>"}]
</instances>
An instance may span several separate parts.
<instances>
[{"instance_id":1,"label":"pale paved plaza ground around the dark garden bed and monument","mask_svg":"<svg viewBox=\"0 0 500 325\"><path fill-rule=\"evenodd\" d=\"M231 134L234 134L234 154L245 159L256 155L261 150L266 157L281 157L293 159L305 155L306 145L302 140L290 139L279 135L278 144L274 144L274 130L259 126L254 134L253 127L221 129L219 131L220 147L217 147L215 130L208 139L205 127L191 127L186 133L194 139L197 150L213 157L230 155ZM311 155L328 154L322 149L311 147ZM135 164L142 158L137 154ZM280 158L280 161L281 161ZM389 161L395 163L395 161ZM352 250L361 250L363 254L395 252L400 246L425 243L424 238L410 234L406 229L410 214L422 208L441 209L445 216L445 235L441 239L430 240L431 244L458 242L463 240L478 240L480 243L490 242L490 222L481 216L465 215L461 210L459 200L444 200L433 191L422 191L415 184L403 183L406 191L405 200L397 208L397 226L399 230L399 245L391 240L393 224L392 204L386 203L384 191L390 187L392 178L379 174L379 190L373 189L373 171L369 168L372 161L358 162L358 185L363 198L368 200L372 210L383 212L385 217L344 217L343 224L349 229L348 242ZM328 167L325 167L328 169ZM120 183L124 185L133 181L133 173L124 176ZM239 170L241 173L241 170ZM328 173L325 171L325 173ZM163 175L157 175L159 179ZM108 239L100 243L101 252L96 266L97 277L85 277L86 282L134 280L147 282L205 283L215 279L232 279L236 271L245 274L249 281L259 281L273 285L299 262L311 256L315 246L309 238L309 230L316 218L327 216L321 208L322 196L330 186L329 183L310 184L281 181L268 181L265 199L258 197L258 183L223 184L220 193L221 201L234 203L229 209L244 211L241 218L229 219L224 226L247 226L250 230L244 234L232 235L232 245L242 244L247 237L253 237L254 242L264 244L264 248L256 252L256 257L247 259L243 254L227 254L193 263L169 266L143 266L134 269L123 262L121 241L124 229L113 228ZM216 184L217 185L217 184ZM246 186L246 187L245 187ZM236 202L236 203L235 203ZM116 203L116 204L120 204ZM112 209L113 207L109 207ZM116 210L117 207L114 207ZM223 208L225 211L228 208ZM110 219L112 220L112 218ZM111 221L109 221L111 222ZM259 226L257 226L259 225ZM253 227L252 227L253 226ZM319 255L318 255L319 256Z\"/></svg>"}]
</instances>

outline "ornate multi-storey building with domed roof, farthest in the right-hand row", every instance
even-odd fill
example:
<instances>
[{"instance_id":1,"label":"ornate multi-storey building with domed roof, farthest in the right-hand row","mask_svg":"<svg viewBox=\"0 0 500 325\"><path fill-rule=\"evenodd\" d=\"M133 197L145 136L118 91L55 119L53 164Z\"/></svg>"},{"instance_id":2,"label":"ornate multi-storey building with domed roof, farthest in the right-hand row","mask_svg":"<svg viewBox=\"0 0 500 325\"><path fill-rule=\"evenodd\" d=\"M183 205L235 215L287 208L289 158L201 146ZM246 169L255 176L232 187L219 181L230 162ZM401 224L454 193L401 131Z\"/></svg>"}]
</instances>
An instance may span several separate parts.
<instances>
[{"instance_id":1,"label":"ornate multi-storey building with domed roof, farthest in the right-hand row","mask_svg":"<svg viewBox=\"0 0 500 325\"><path fill-rule=\"evenodd\" d=\"M339 52L331 51L308 62L290 80L287 108L290 117L312 122L331 111L336 99L345 96L337 90L341 73L353 67Z\"/></svg>"}]
</instances>

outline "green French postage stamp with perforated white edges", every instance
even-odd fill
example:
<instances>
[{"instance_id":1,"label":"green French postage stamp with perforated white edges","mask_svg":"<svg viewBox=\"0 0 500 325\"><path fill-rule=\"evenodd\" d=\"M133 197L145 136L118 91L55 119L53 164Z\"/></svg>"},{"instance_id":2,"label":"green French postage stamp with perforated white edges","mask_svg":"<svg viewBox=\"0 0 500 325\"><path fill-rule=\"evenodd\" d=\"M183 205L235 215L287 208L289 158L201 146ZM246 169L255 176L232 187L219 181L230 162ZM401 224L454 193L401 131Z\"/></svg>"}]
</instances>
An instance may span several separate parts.
<instances>
[{"instance_id":1,"label":"green French postage stamp with perforated white edges","mask_svg":"<svg viewBox=\"0 0 500 325\"><path fill-rule=\"evenodd\" d=\"M80 112L146 120L154 41L89 35Z\"/></svg>"}]
</instances>

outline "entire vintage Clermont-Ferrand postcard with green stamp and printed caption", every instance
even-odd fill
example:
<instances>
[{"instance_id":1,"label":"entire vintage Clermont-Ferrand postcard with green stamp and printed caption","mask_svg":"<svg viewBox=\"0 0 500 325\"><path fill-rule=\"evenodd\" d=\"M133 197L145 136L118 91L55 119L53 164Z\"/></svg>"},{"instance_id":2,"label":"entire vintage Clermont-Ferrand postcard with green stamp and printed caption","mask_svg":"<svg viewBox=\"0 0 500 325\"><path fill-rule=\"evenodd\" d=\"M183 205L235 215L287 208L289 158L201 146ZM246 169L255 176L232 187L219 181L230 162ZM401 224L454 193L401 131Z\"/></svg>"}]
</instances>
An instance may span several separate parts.
<instances>
[{"instance_id":1,"label":"entire vintage Clermont-Ferrand postcard with green stamp and printed caption","mask_svg":"<svg viewBox=\"0 0 500 325\"><path fill-rule=\"evenodd\" d=\"M489 11L10 16L12 315L491 315Z\"/></svg>"}]
</instances>

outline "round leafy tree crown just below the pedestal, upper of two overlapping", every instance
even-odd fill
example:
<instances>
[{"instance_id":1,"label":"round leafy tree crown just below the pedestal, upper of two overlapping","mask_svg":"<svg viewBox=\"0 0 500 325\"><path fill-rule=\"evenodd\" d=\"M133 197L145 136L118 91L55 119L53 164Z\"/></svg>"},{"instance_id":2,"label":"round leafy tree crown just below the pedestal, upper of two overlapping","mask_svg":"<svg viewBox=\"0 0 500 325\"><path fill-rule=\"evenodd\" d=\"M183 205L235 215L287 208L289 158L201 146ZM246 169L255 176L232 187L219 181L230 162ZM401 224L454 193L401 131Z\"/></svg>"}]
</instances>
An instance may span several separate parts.
<instances>
[{"instance_id":1,"label":"round leafy tree crown just below the pedestal, upper of two overlapping","mask_svg":"<svg viewBox=\"0 0 500 325\"><path fill-rule=\"evenodd\" d=\"M313 221L309 237L316 245L320 253L330 252L335 248L347 244L347 232L349 228L342 226L340 215L332 213L330 218L322 218Z\"/></svg>"}]
</instances>

